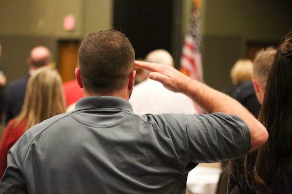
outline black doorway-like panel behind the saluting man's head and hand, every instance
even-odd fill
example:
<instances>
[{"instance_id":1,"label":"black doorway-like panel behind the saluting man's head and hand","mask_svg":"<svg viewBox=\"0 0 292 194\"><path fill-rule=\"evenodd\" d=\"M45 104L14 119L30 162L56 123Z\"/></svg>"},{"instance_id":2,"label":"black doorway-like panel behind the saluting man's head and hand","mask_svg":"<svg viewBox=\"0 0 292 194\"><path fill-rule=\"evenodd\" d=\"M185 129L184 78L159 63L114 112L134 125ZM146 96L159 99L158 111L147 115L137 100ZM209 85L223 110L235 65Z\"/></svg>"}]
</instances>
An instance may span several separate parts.
<instances>
[{"instance_id":1,"label":"black doorway-like panel behind the saluting man's head and hand","mask_svg":"<svg viewBox=\"0 0 292 194\"><path fill-rule=\"evenodd\" d=\"M154 49L172 50L173 0L114 0L113 25L131 41L136 59Z\"/></svg>"}]
</instances>

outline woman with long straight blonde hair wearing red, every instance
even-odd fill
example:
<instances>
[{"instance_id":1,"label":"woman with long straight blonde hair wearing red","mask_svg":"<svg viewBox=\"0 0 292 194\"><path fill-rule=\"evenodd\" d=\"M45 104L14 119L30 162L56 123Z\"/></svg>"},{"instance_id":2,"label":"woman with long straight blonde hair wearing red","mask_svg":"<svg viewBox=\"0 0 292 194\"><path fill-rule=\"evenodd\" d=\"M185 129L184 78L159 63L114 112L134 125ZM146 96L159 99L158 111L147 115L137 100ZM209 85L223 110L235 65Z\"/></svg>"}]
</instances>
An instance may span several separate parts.
<instances>
[{"instance_id":1,"label":"woman with long straight blonde hair wearing red","mask_svg":"<svg viewBox=\"0 0 292 194\"><path fill-rule=\"evenodd\" d=\"M39 68L29 79L22 110L12 119L0 144L0 178L7 161L8 150L32 126L66 111L62 81L58 72L49 66Z\"/></svg>"}]
</instances>

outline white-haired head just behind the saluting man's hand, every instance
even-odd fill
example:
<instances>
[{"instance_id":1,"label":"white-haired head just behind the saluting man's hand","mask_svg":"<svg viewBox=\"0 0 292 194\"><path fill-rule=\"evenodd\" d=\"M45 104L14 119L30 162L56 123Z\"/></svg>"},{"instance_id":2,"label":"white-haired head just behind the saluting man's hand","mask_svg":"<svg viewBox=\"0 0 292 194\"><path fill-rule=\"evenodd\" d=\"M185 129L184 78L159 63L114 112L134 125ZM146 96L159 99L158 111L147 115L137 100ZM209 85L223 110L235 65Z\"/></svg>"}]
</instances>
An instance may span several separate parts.
<instances>
[{"instance_id":1,"label":"white-haired head just behind the saluting man's hand","mask_svg":"<svg viewBox=\"0 0 292 194\"><path fill-rule=\"evenodd\" d=\"M146 62L156 63L156 64L167 64L174 66L173 58L169 52L163 49L156 49L149 52L145 58Z\"/></svg>"}]
</instances>

